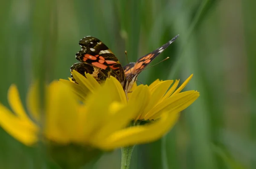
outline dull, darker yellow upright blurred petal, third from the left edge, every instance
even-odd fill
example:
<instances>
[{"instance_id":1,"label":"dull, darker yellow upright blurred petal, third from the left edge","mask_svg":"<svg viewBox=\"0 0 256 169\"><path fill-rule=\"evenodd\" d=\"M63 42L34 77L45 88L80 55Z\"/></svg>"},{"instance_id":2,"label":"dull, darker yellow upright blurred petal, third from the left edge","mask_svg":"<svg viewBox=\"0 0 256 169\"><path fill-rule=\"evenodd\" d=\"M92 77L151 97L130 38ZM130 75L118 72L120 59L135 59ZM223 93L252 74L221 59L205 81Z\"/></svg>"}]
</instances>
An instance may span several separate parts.
<instances>
[{"instance_id":1,"label":"dull, darker yellow upright blurred petal, third from the left edge","mask_svg":"<svg viewBox=\"0 0 256 169\"><path fill-rule=\"evenodd\" d=\"M30 86L29 92L26 97L27 108L32 117L36 121L39 120L40 105L39 105L39 88L38 83L34 83Z\"/></svg>"}]
</instances>

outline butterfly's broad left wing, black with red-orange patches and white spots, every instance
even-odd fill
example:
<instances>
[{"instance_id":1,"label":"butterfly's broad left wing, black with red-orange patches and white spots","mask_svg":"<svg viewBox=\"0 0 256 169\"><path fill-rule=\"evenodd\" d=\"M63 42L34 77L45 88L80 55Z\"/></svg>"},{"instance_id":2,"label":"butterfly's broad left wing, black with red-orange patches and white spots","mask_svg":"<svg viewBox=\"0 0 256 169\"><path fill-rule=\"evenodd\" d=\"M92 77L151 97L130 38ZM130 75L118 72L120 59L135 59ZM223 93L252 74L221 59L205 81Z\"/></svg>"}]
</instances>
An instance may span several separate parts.
<instances>
[{"instance_id":1,"label":"butterfly's broad left wing, black with red-orange patches and white spots","mask_svg":"<svg viewBox=\"0 0 256 169\"><path fill-rule=\"evenodd\" d=\"M71 70L79 70L83 75L83 71L86 70L85 72L93 74L99 82L110 75L121 83L125 81L125 73L119 60L99 39L87 36L79 41L79 45L81 50L76 54L76 59L83 64L76 63L70 68Z\"/></svg>"}]
</instances>

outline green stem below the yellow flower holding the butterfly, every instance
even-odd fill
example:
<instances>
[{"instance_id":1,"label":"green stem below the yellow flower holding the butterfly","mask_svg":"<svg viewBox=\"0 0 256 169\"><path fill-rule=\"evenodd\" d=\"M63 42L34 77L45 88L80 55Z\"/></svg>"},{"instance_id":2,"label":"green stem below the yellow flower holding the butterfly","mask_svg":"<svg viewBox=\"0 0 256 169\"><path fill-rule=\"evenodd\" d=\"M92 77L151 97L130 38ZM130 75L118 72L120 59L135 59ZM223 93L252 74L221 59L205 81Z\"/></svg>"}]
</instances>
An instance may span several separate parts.
<instances>
[{"instance_id":1,"label":"green stem below the yellow flower holding the butterfly","mask_svg":"<svg viewBox=\"0 0 256 169\"><path fill-rule=\"evenodd\" d=\"M134 146L122 147L121 169L129 169Z\"/></svg>"}]
</instances>

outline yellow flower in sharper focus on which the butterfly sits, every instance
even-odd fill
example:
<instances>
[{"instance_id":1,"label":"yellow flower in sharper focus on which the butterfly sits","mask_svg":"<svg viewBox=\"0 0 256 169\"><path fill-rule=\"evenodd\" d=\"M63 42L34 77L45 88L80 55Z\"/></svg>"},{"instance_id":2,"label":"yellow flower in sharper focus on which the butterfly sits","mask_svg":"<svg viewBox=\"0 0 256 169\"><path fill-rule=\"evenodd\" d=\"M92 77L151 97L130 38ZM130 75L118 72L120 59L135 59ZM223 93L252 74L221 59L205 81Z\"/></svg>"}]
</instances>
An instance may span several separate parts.
<instances>
[{"instance_id":1,"label":"yellow flower in sharper focus on which the butterfly sits","mask_svg":"<svg viewBox=\"0 0 256 169\"><path fill-rule=\"evenodd\" d=\"M79 96L81 100L84 100L84 103L88 101L88 93L95 95L98 93L99 89L101 89L101 85L99 85L90 74L85 75L87 78L76 71L73 72L73 77L78 84L71 80L60 80L62 83L71 86L73 92ZM118 80L114 77L110 77L104 85L110 81L113 83L105 88L107 91L102 89L101 92L108 92L109 96L118 97L119 106L122 105L122 113L115 119L106 117L108 118L106 120L119 123L121 119L129 116L131 117L131 120L133 120L133 123L127 128L119 128L120 130L118 131L110 132L108 135L105 135L105 137L97 137L98 139L104 139L104 143L99 144L98 146L101 146L103 149L107 147L124 147L140 143L148 143L162 137L175 125L180 115L180 111L186 109L199 97L199 93L194 90L180 93L191 77L192 75L176 91L175 89L177 88L179 80L176 80L170 89L169 86L173 83L173 80L156 80L149 86L134 85L131 92L128 93L128 100L126 100L125 92ZM99 101L96 103L98 106L109 99L103 95L95 95L95 97L99 97ZM104 99L102 99L103 97ZM104 113L105 112L100 112L99 116ZM128 123L125 125L128 126ZM122 127L125 125L122 125ZM110 128L114 129L116 126L113 124L109 129Z\"/></svg>"}]
</instances>

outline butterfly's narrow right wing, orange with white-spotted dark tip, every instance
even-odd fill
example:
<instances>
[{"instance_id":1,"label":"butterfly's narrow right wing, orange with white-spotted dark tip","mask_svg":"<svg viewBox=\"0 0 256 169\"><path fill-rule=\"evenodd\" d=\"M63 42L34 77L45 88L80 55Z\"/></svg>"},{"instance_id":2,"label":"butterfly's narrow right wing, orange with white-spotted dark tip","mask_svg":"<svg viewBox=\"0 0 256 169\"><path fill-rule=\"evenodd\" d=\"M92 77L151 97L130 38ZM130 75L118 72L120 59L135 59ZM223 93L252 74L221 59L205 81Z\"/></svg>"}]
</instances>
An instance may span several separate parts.
<instances>
[{"instance_id":1,"label":"butterfly's narrow right wing, orange with white-spotted dark tip","mask_svg":"<svg viewBox=\"0 0 256 169\"><path fill-rule=\"evenodd\" d=\"M172 38L172 40L169 40L166 44L161 46L160 48L157 48L151 53L146 54L143 57L140 57L135 65L133 66L131 75L134 76L136 74L139 74L143 69L145 69L146 66L148 66L149 63L151 63L154 58L156 58L161 52L163 52L171 43L173 43L179 35Z\"/></svg>"}]
</instances>

